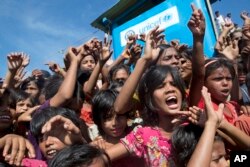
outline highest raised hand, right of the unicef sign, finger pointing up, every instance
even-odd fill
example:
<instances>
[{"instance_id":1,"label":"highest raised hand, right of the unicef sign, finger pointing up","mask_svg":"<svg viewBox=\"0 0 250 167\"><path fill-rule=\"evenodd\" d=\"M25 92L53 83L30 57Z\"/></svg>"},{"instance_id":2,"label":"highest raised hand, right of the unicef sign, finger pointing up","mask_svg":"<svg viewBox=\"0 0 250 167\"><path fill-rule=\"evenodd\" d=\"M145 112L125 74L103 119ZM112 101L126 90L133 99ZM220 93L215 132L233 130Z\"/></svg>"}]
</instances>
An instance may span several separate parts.
<instances>
[{"instance_id":1,"label":"highest raised hand, right of the unicef sign, finger pointing up","mask_svg":"<svg viewBox=\"0 0 250 167\"><path fill-rule=\"evenodd\" d=\"M197 9L194 4L191 4L191 7L193 13L188 22L188 27L194 36L203 37L205 35L206 29L205 18L202 11L200 9Z\"/></svg>"}]
</instances>

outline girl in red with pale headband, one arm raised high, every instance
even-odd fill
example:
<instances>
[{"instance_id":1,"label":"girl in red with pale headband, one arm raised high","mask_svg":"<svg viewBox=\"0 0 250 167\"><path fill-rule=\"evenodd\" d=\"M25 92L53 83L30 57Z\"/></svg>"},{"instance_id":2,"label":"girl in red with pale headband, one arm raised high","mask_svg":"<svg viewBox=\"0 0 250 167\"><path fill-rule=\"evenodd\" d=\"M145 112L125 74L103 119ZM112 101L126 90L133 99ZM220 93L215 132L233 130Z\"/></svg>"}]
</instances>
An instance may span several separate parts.
<instances>
[{"instance_id":1,"label":"girl in red with pale headband, one arm raised high","mask_svg":"<svg viewBox=\"0 0 250 167\"><path fill-rule=\"evenodd\" d=\"M192 59L192 83L190 87L190 106L198 106L204 108L204 101L201 99L201 89L202 86L206 86L208 91L211 93L212 102L214 109L218 109L220 103L224 103L224 117L231 124L243 125L244 130L249 134L250 129L248 118L242 116L239 120L238 113L239 107L237 106L237 97L239 95L239 87L235 84L233 88L233 79L236 76L233 61L238 56L237 49L231 48L231 52L223 52L226 58L212 58L205 61L203 55L203 39L205 34L205 19L202 12L196 9L194 6L193 15L188 23L189 29L192 31L194 36L194 49L193 49L193 59ZM227 46L229 47L229 46ZM230 47L233 47L231 45ZM231 58L231 60L229 60ZM231 96L231 100L236 100L235 102L229 102L228 99ZM241 119L244 118L244 121ZM237 124L237 123L236 123ZM237 125L238 126L238 125ZM240 126L240 125L239 125Z\"/></svg>"}]
</instances>

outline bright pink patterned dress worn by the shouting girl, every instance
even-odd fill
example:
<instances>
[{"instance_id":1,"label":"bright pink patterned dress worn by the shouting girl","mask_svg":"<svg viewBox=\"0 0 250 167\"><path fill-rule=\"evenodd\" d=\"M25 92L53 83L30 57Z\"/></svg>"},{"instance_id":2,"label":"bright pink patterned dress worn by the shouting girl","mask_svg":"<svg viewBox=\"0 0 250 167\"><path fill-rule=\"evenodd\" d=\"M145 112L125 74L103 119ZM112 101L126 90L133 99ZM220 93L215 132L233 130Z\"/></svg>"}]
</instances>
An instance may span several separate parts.
<instances>
[{"instance_id":1,"label":"bright pink patterned dress worn by the shouting girl","mask_svg":"<svg viewBox=\"0 0 250 167\"><path fill-rule=\"evenodd\" d=\"M147 166L168 166L171 140L162 136L158 127L137 126L121 143L131 154L144 158Z\"/></svg>"}]
</instances>

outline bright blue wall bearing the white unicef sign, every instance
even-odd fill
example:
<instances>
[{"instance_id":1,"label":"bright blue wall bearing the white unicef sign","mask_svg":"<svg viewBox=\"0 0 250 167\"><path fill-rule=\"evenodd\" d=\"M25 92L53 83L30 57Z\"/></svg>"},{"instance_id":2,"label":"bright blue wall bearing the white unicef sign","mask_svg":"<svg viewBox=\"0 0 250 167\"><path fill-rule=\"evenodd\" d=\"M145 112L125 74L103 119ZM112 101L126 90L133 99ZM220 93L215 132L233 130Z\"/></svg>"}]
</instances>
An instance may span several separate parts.
<instances>
[{"instance_id":1,"label":"bright blue wall bearing the white unicef sign","mask_svg":"<svg viewBox=\"0 0 250 167\"><path fill-rule=\"evenodd\" d=\"M126 35L130 33L138 34L142 31L148 32L158 24L160 28L166 28L165 38L167 41L179 39L181 43L192 46L192 33L187 27L192 14L191 3L194 3L197 8L203 11L206 19L204 52L207 57L213 56L216 36L206 0L166 0L123 25L117 26L116 23L112 24L113 47L115 50L114 58L116 59L122 52Z\"/></svg>"}]
</instances>

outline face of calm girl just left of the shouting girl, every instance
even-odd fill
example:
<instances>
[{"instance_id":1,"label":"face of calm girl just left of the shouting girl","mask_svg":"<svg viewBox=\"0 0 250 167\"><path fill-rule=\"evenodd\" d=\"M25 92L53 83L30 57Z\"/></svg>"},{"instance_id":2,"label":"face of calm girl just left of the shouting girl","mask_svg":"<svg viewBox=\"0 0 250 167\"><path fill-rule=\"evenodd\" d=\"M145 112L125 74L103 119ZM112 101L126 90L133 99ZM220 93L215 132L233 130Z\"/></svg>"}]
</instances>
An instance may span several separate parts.
<instances>
[{"instance_id":1,"label":"face of calm girl just left of the shouting girl","mask_svg":"<svg viewBox=\"0 0 250 167\"><path fill-rule=\"evenodd\" d=\"M127 127L127 117L125 115L114 115L113 117L102 120L102 129L107 136L120 138Z\"/></svg>"}]
</instances>

